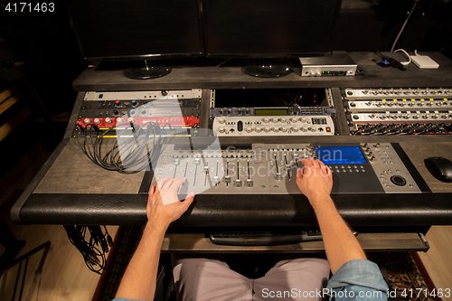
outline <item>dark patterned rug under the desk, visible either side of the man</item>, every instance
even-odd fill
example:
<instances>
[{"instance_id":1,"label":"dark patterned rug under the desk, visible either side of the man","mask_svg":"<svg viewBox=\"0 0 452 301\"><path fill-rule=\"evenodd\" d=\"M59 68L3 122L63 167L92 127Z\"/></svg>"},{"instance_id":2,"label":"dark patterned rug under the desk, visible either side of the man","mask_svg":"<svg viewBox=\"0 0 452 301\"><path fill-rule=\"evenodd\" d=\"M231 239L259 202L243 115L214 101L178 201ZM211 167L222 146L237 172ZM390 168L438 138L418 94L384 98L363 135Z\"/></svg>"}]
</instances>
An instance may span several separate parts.
<instances>
[{"instance_id":1,"label":"dark patterned rug under the desk, visible either side of the man","mask_svg":"<svg viewBox=\"0 0 452 301\"><path fill-rule=\"evenodd\" d=\"M115 297L127 264L137 249L141 234L141 227L120 227L114 248L108 256L107 269L100 277L92 301L110 301ZM377 256L374 254L370 255L371 260L375 261L376 258ZM433 290L434 287L417 253L380 253L378 258L387 268L392 296L402 301L441 301L438 296L431 296L430 290ZM165 259L169 259L169 257L165 257Z\"/></svg>"}]
</instances>

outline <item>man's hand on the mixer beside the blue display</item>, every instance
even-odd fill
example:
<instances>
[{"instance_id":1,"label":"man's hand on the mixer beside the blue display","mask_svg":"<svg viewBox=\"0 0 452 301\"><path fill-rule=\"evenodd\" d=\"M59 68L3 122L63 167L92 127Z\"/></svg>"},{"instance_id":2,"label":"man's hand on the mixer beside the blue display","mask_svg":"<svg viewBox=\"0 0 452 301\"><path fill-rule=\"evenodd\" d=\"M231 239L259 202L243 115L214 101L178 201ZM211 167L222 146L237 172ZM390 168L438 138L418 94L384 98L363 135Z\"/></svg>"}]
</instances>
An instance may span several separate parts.
<instances>
[{"instance_id":1,"label":"man's hand on the mixer beside the blue display","mask_svg":"<svg viewBox=\"0 0 452 301\"><path fill-rule=\"evenodd\" d=\"M320 160L311 158L303 159L305 170L297 170L297 186L301 193L305 194L309 202L314 206L317 200L328 197L333 188L331 170Z\"/></svg>"}]
</instances>

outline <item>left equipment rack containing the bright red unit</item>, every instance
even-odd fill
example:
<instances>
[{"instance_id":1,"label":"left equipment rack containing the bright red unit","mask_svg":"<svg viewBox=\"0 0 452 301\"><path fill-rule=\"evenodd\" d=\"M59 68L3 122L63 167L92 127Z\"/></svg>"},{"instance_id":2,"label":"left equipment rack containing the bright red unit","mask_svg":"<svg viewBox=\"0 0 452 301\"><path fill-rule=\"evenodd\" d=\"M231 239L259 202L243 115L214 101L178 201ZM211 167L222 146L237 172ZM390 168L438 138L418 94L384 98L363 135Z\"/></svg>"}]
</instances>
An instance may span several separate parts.
<instances>
[{"instance_id":1,"label":"left equipment rack containing the bright red unit","mask_svg":"<svg viewBox=\"0 0 452 301\"><path fill-rule=\"evenodd\" d=\"M106 130L153 123L162 128L171 127L170 135L190 135L191 128L199 127L200 110L201 89L89 91L76 124Z\"/></svg>"}]
</instances>

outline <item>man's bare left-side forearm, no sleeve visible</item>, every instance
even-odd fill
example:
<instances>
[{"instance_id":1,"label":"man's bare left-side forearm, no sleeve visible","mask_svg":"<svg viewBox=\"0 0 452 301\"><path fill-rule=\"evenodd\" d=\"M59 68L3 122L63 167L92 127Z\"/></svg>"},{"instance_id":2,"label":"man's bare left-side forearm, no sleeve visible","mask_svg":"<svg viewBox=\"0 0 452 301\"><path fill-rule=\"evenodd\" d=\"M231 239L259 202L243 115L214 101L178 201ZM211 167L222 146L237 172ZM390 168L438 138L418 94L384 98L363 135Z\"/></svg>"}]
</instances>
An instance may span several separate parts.
<instances>
[{"instance_id":1,"label":"man's bare left-side forearm, no sleeve visible","mask_svg":"<svg viewBox=\"0 0 452 301\"><path fill-rule=\"evenodd\" d=\"M158 260L166 228L149 223L146 225L143 238L121 280L117 297L153 300Z\"/></svg>"}]
</instances>

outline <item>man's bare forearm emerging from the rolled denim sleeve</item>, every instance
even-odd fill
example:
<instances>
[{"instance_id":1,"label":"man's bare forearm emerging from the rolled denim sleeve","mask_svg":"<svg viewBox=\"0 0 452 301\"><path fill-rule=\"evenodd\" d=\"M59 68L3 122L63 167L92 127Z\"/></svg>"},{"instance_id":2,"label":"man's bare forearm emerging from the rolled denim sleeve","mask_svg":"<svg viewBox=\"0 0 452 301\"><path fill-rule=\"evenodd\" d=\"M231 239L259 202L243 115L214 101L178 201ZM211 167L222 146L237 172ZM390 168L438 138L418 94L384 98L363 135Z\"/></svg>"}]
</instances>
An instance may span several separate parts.
<instances>
[{"instance_id":1,"label":"man's bare forearm emerging from the rolled denim sleeve","mask_svg":"<svg viewBox=\"0 0 452 301\"><path fill-rule=\"evenodd\" d=\"M337 212L333 200L324 196L313 203L333 274L347 261L366 259L363 248Z\"/></svg>"}]
</instances>

